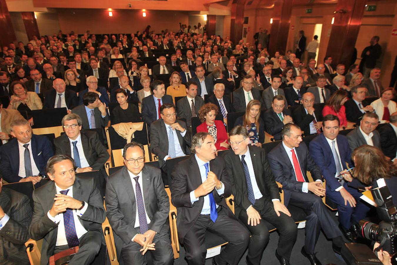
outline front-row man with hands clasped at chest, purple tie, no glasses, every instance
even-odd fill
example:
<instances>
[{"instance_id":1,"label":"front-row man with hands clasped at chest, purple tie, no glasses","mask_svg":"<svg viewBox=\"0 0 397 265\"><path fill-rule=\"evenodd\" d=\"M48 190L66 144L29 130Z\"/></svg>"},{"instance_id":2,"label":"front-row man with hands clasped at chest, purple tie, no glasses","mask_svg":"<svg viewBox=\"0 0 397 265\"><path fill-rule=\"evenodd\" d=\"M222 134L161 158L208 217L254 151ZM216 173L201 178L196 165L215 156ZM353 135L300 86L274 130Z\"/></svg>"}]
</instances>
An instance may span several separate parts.
<instances>
[{"instance_id":1,"label":"front-row man with hands clasped at chest, purple tie, no glasses","mask_svg":"<svg viewBox=\"0 0 397 265\"><path fill-rule=\"evenodd\" d=\"M102 246L103 197L93 178L75 176L71 157L55 155L47 165L52 181L33 191L35 208L29 227L31 238L44 238L40 264L75 246L79 252L69 264L90 264Z\"/></svg>"}]
</instances>

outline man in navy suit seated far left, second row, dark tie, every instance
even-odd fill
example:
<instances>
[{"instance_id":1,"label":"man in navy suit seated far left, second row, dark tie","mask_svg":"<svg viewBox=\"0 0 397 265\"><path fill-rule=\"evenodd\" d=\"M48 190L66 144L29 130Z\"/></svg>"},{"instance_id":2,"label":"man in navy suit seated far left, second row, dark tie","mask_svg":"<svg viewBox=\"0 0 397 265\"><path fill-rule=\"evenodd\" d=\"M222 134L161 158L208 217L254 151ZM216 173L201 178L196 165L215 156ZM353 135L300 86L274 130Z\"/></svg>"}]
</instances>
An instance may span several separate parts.
<instances>
[{"instance_id":1,"label":"man in navy suit seated far left, second row, dark tie","mask_svg":"<svg viewBox=\"0 0 397 265\"><path fill-rule=\"evenodd\" d=\"M33 135L24 119L11 122L11 135L15 138L0 149L0 172L4 180L40 183L46 175L47 160L54 155L51 142L46 136Z\"/></svg>"}]
</instances>

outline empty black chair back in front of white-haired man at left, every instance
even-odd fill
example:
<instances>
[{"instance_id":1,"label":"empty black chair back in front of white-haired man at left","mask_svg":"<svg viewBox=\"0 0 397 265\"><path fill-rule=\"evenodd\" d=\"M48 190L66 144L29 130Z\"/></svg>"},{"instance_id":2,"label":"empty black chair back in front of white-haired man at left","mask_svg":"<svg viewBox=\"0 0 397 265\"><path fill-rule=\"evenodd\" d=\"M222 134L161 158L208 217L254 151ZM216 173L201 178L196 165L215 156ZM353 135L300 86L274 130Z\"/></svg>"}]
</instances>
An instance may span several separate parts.
<instances>
[{"instance_id":1,"label":"empty black chair back in front of white-haired man at left","mask_svg":"<svg viewBox=\"0 0 397 265\"><path fill-rule=\"evenodd\" d=\"M62 118L67 114L66 108L48 108L42 110L32 110L32 128L46 128L61 126Z\"/></svg>"}]
</instances>

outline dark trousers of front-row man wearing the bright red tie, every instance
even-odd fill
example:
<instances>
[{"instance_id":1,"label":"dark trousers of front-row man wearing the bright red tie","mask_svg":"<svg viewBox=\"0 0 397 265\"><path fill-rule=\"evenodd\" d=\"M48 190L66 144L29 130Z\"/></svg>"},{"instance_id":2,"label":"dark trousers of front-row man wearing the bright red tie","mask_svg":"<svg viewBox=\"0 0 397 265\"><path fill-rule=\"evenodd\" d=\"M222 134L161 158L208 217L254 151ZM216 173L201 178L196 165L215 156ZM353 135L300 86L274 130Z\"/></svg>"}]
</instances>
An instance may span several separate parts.
<instances>
[{"instance_id":1,"label":"dark trousers of front-row man wearing the bright red tie","mask_svg":"<svg viewBox=\"0 0 397 265\"><path fill-rule=\"evenodd\" d=\"M289 204L299 207L306 212L306 238L304 240L304 246L308 253L314 253L321 229L327 238L342 236L337 224L327 212L321 197L310 192L292 191Z\"/></svg>"}]
</instances>

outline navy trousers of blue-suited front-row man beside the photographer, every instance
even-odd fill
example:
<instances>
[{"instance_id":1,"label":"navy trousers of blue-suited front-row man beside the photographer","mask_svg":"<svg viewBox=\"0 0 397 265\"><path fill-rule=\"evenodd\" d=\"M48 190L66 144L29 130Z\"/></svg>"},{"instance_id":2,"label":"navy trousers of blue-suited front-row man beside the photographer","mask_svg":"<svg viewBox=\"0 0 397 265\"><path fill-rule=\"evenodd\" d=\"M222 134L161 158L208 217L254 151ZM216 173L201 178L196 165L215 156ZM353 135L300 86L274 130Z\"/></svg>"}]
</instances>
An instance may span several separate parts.
<instances>
[{"instance_id":1,"label":"navy trousers of blue-suited front-row man beside the photographer","mask_svg":"<svg viewBox=\"0 0 397 265\"><path fill-rule=\"evenodd\" d=\"M351 222L358 223L361 219L366 217L370 207L368 207L366 203L360 199L362 193L347 186L345 186L345 189L349 191L349 193L356 199L356 207L351 207L349 203L345 205L345 200L339 191L330 191L327 188L327 196L331 199L331 201L338 205L337 209L339 222L345 229L348 229L351 226Z\"/></svg>"}]
</instances>

